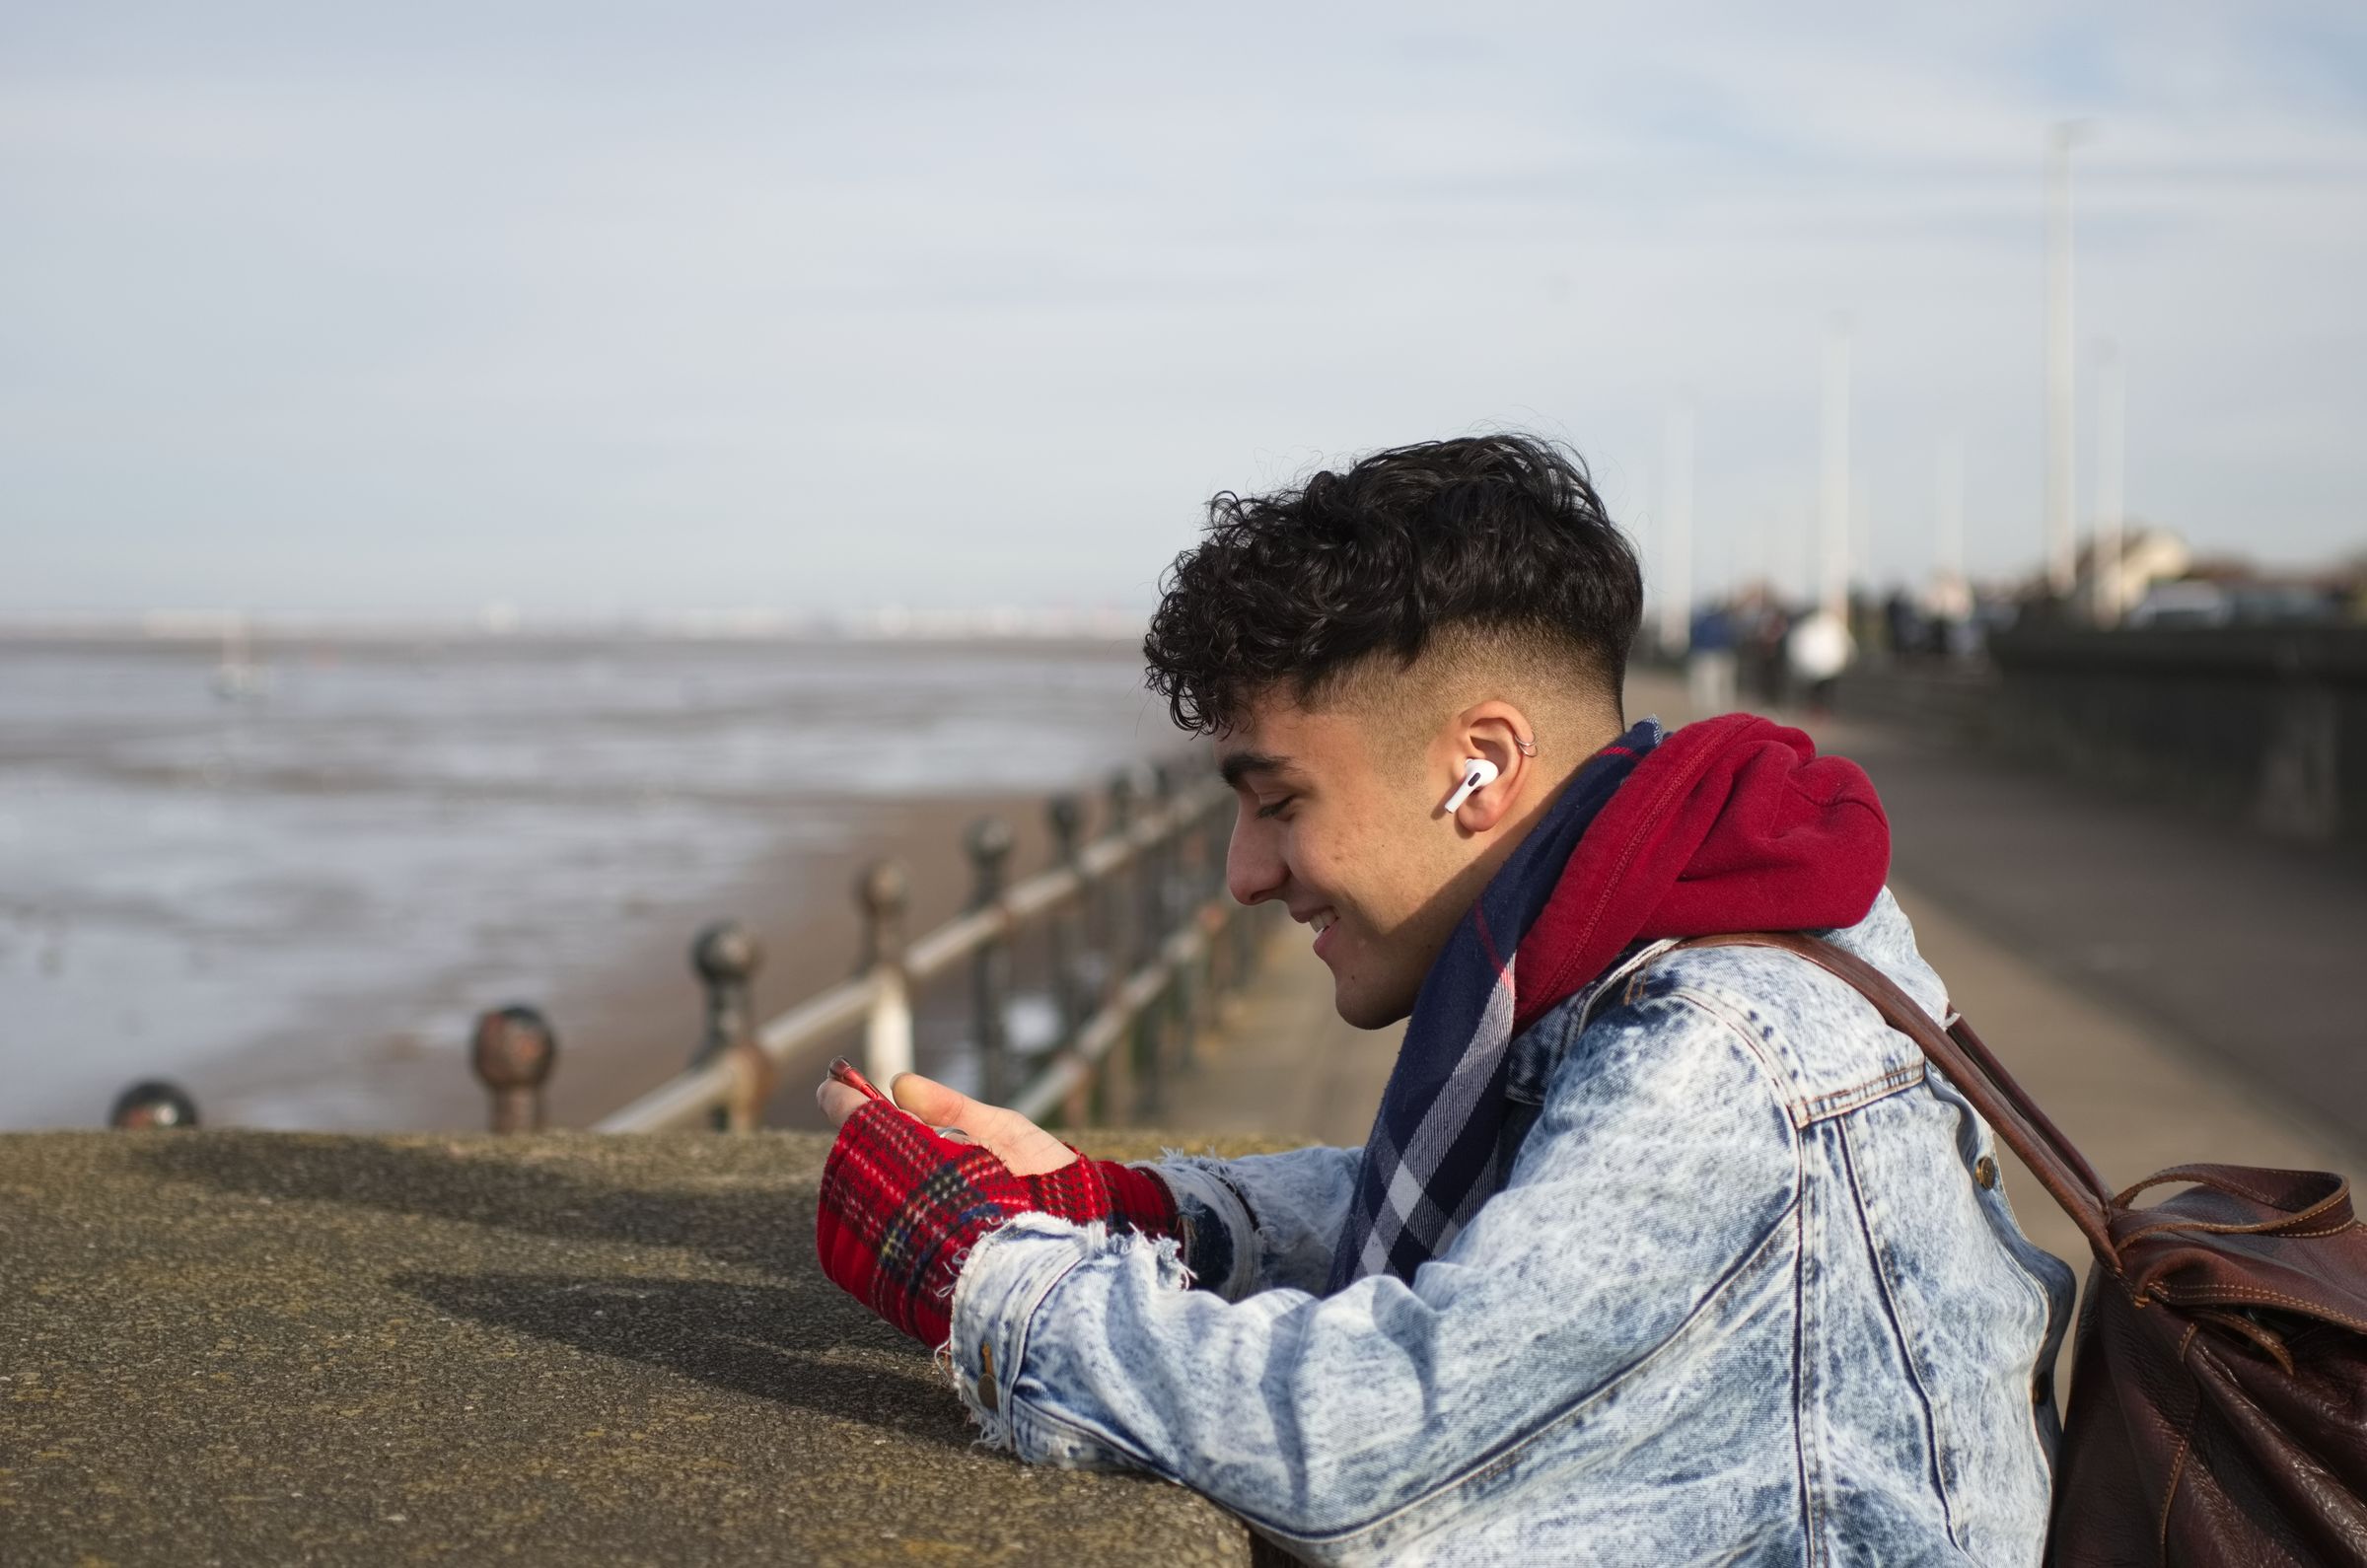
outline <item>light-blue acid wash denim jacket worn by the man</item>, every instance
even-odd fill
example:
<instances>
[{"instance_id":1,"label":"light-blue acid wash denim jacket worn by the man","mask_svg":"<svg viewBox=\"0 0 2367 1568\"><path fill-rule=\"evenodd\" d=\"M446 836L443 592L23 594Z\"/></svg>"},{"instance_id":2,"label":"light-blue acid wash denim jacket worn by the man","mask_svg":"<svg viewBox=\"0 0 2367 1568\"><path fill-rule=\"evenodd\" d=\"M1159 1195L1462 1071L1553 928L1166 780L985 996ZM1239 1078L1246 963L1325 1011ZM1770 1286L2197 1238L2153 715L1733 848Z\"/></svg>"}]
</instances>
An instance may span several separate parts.
<instances>
[{"instance_id":1,"label":"light-blue acid wash denim jacket worn by the man","mask_svg":"<svg viewBox=\"0 0 2367 1568\"><path fill-rule=\"evenodd\" d=\"M1946 1016L1889 893L1825 936ZM2038 1563L2071 1270L1913 1040L1792 955L1659 943L1534 1023L1508 1092L1510 1184L1411 1286L1318 1296L1356 1149L1162 1163L1188 1262L989 1234L973 1416L1316 1563Z\"/></svg>"}]
</instances>

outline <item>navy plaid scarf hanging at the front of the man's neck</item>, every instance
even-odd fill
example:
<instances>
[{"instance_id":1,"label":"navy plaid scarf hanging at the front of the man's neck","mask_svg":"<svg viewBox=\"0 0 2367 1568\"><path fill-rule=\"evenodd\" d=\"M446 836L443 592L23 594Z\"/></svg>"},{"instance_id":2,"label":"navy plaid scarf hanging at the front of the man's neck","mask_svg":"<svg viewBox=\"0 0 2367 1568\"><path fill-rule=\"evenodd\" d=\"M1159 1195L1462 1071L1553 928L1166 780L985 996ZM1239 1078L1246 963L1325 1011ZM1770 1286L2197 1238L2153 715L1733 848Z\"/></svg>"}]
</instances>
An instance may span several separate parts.
<instances>
[{"instance_id":1,"label":"navy plaid scarf hanging at the front of the man's neck","mask_svg":"<svg viewBox=\"0 0 2367 1568\"><path fill-rule=\"evenodd\" d=\"M1647 718L1588 758L1430 966L1363 1144L1333 1291L1380 1272L1411 1281L1503 1189L1513 957L1595 812L1659 741Z\"/></svg>"}]
</instances>

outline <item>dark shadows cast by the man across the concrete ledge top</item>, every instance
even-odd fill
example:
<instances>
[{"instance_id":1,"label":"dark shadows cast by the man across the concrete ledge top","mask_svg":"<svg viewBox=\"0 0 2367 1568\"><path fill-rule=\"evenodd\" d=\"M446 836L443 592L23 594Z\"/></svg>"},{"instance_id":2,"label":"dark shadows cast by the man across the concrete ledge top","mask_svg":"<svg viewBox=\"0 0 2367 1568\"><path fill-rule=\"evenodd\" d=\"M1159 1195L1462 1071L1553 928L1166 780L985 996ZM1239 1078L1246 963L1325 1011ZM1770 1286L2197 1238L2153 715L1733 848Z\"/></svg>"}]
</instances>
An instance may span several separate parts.
<instances>
[{"instance_id":1,"label":"dark shadows cast by the man across the concrete ledge top","mask_svg":"<svg viewBox=\"0 0 2367 1568\"><path fill-rule=\"evenodd\" d=\"M975 1433L930 1357L854 1305L814 1262L821 1142L717 1144L717 1158L686 1158L686 1144L667 1142L670 1151L592 1137L554 1149L547 1139L215 1132L161 1137L137 1158L168 1180L249 1199L537 1236L556 1248L518 1248L525 1258L575 1267L433 1267L483 1255L483 1246L450 1234L438 1244L436 1229L421 1229L414 1246L386 1258L393 1272L383 1284L452 1317L968 1447ZM729 1184L679 1187L684 1177ZM760 1279L696 1277L717 1265Z\"/></svg>"}]
</instances>

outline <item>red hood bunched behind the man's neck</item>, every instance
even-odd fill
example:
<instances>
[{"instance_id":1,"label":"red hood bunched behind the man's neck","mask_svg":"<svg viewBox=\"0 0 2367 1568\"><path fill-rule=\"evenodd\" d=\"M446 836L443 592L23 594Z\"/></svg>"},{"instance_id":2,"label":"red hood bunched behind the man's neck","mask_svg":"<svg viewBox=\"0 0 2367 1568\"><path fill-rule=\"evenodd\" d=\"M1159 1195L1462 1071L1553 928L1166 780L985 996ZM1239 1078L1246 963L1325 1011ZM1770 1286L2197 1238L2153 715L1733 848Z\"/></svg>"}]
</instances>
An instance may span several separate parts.
<instances>
[{"instance_id":1,"label":"red hood bunched behind the man's neck","mask_svg":"<svg viewBox=\"0 0 2367 1568\"><path fill-rule=\"evenodd\" d=\"M1865 770L1752 713L1685 725L1586 827L1520 943L1513 1033L1636 940L1856 926L1891 865Z\"/></svg>"}]
</instances>

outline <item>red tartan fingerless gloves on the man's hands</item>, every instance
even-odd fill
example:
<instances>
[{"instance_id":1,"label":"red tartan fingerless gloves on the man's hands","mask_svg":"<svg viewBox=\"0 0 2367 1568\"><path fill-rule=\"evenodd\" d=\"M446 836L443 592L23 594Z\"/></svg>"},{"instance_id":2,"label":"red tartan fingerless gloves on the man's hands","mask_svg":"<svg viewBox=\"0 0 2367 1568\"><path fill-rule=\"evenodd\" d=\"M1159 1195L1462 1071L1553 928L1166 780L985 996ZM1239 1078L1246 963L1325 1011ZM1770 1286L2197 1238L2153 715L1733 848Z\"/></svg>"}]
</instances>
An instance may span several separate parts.
<instances>
[{"instance_id":1,"label":"red tartan fingerless gloves on the man's hands","mask_svg":"<svg viewBox=\"0 0 2367 1568\"><path fill-rule=\"evenodd\" d=\"M1077 1156L1049 1175L1020 1177L985 1144L940 1137L873 1101L845 1120L821 1168L814 1251L840 1291L923 1345L942 1345L970 1246L1025 1213L1153 1236L1176 1229L1174 1196L1148 1170Z\"/></svg>"}]
</instances>

